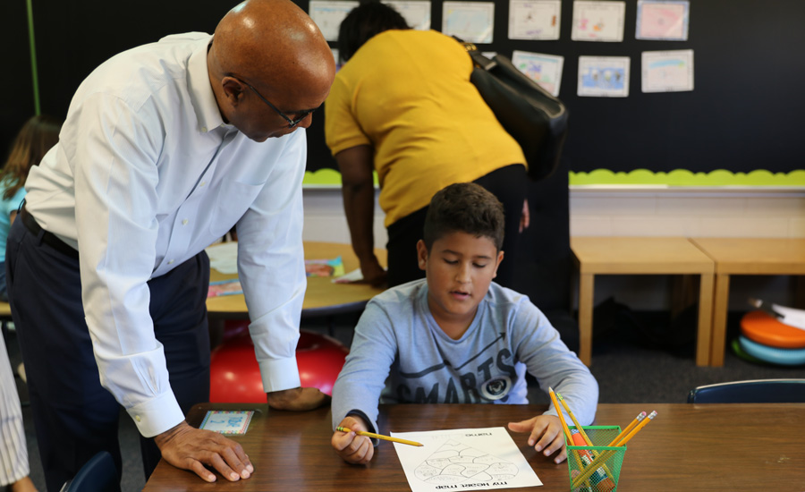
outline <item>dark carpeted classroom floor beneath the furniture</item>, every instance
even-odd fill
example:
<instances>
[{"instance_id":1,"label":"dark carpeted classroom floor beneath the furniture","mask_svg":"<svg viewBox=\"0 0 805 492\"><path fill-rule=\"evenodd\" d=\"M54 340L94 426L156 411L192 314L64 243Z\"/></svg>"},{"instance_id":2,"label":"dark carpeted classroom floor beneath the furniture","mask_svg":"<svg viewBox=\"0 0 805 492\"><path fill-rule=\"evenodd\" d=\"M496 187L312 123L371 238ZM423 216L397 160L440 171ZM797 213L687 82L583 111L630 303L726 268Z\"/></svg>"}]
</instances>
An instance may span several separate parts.
<instances>
[{"instance_id":1,"label":"dark carpeted classroom floor beneath the furniture","mask_svg":"<svg viewBox=\"0 0 805 492\"><path fill-rule=\"evenodd\" d=\"M728 340L737 334L741 313L730 316ZM354 318L335 320L335 337L349 344ZM695 386L741 379L801 377L800 368L758 365L743 361L727 351L723 368L696 367L693 362L692 334L695 322L684 313L674 321L664 313L631 313L617 305L597 308L594 328L593 364L590 368L600 387L600 403L684 403L688 391ZM327 333L324 323L307 323L306 329ZM572 339L569 335L568 339ZM12 366L21 361L16 336L6 341ZM572 340L569 342L572 345ZM41 492L45 491L42 466L30 416L28 392L17 377L23 402L25 433L28 437L31 478ZM530 385L531 403L547 403L547 395ZM650 406L650 405L649 405ZM647 408L647 410L650 410ZM120 441L123 450L123 492L139 491L145 486L140 462L137 429L121 411Z\"/></svg>"}]
</instances>

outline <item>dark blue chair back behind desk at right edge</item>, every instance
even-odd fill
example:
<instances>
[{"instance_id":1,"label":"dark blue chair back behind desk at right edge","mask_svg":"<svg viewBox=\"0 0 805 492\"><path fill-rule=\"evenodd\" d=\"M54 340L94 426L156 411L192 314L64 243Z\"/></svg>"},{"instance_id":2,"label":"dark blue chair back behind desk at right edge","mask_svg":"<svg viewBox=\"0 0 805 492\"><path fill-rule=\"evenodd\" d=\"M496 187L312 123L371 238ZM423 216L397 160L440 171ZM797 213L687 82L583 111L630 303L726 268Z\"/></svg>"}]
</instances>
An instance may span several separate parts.
<instances>
[{"instance_id":1,"label":"dark blue chair back behind desk at right edge","mask_svg":"<svg viewBox=\"0 0 805 492\"><path fill-rule=\"evenodd\" d=\"M688 403L805 403L805 379L754 379L699 386Z\"/></svg>"}]
</instances>

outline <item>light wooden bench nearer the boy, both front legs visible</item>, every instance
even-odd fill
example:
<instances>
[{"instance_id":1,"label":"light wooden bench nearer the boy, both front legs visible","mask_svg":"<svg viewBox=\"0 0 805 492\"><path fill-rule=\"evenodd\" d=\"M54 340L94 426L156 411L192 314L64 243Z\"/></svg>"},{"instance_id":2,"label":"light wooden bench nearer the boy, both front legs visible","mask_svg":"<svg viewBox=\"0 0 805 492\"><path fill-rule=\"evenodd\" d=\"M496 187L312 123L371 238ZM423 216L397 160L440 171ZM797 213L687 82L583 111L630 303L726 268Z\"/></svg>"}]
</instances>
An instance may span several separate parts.
<instances>
[{"instance_id":1,"label":"light wooden bench nearer the boy, both front legs visible","mask_svg":"<svg viewBox=\"0 0 805 492\"><path fill-rule=\"evenodd\" d=\"M696 365L710 361L713 260L681 237L573 237L579 268L579 358L592 361L592 310L597 275L698 275Z\"/></svg>"}]
</instances>

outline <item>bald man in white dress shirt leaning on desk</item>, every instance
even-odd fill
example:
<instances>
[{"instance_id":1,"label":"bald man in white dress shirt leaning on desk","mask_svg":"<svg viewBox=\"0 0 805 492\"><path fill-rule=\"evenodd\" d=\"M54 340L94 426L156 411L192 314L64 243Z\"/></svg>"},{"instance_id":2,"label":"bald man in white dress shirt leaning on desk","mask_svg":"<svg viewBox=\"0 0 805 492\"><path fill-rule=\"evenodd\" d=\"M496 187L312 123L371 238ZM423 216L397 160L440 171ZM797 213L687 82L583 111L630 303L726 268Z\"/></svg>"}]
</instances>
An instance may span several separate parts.
<instances>
[{"instance_id":1,"label":"bald man in white dress shirt leaning on desk","mask_svg":"<svg viewBox=\"0 0 805 492\"><path fill-rule=\"evenodd\" d=\"M26 182L6 262L48 490L100 450L120 470L120 405L147 477L160 451L207 481L258 472L240 445L183 417L209 399L204 248L233 225L268 403L326 403L300 387L295 348L304 129L334 76L307 14L249 0L214 36L136 47L80 85Z\"/></svg>"}]
</instances>

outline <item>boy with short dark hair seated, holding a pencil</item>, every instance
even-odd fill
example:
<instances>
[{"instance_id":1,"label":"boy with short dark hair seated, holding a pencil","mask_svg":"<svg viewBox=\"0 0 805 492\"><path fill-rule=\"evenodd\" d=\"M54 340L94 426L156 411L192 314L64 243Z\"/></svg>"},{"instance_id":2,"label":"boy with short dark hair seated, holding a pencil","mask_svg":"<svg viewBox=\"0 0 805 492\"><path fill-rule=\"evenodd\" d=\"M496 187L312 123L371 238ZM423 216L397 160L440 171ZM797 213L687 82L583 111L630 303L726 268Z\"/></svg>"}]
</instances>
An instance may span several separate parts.
<instances>
[{"instance_id":1,"label":"boy with short dark hair seated, holding a pencil","mask_svg":"<svg viewBox=\"0 0 805 492\"><path fill-rule=\"evenodd\" d=\"M352 429L331 440L345 461L372 459L377 439L354 431L377 432L378 400L528 403L526 370L561 393L581 425L592 422L598 385L587 366L528 297L492 283L503 231L503 206L478 184L434 195L417 244L426 278L369 301L333 387L333 428ZM559 463L567 453L556 410L508 427Z\"/></svg>"}]
</instances>

